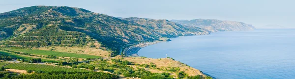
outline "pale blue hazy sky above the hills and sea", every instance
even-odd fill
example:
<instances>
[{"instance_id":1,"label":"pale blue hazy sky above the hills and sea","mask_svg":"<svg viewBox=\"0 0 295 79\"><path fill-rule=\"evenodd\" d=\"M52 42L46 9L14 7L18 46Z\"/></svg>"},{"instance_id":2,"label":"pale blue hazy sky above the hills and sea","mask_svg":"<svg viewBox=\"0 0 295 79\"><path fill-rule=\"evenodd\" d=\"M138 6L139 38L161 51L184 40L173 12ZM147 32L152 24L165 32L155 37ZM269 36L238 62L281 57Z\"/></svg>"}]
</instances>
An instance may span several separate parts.
<instances>
[{"instance_id":1,"label":"pale blue hazy sky above the hills and sea","mask_svg":"<svg viewBox=\"0 0 295 79\"><path fill-rule=\"evenodd\" d=\"M295 27L295 0L1 0L0 13L34 5L70 6L114 17L217 19Z\"/></svg>"}]
</instances>

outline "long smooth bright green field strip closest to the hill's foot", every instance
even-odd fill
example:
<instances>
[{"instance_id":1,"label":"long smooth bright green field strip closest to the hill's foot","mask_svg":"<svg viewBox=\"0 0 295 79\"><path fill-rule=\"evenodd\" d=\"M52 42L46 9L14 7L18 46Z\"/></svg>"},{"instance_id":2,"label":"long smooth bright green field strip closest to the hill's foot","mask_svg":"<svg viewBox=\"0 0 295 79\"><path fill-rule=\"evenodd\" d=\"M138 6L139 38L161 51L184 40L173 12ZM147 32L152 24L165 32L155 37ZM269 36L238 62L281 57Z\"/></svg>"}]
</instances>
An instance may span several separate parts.
<instances>
[{"instance_id":1,"label":"long smooth bright green field strip closest to the hill's foot","mask_svg":"<svg viewBox=\"0 0 295 79\"><path fill-rule=\"evenodd\" d=\"M79 54L79 53L63 53L63 52L55 52L55 51L27 50L27 49L7 49L7 50L36 54L36 55L56 55L60 57L76 57L76 58L100 58L100 56L96 56L96 55Z\"/></svg>"}]
</instances>

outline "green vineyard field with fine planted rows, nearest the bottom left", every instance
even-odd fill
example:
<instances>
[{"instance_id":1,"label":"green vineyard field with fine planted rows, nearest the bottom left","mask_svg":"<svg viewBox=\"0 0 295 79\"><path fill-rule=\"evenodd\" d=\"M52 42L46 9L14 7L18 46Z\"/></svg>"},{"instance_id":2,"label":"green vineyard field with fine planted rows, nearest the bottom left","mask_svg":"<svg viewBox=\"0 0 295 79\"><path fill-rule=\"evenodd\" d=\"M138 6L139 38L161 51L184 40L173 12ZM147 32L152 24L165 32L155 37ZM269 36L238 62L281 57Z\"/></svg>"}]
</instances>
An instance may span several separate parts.
<instances>
[{"instance_id":1,"label":"green vineyard field with fine planted rows, nearest the bottom left","mask_svg":"<svg viewBox=\"0 0 295 79\"><path fill-rule=\"evenodd\" d=\"M0 64L1 63L2 62L0 62ZM32 70L32 71L41 70L43 72L51 72L51 71L89 72L86 69L67 68L67 67L41 65L41 64L25 64L25 63L9 63L8 65L4 66L4 68L19 69L19 70Z\"/></svg>"}]
</instances>

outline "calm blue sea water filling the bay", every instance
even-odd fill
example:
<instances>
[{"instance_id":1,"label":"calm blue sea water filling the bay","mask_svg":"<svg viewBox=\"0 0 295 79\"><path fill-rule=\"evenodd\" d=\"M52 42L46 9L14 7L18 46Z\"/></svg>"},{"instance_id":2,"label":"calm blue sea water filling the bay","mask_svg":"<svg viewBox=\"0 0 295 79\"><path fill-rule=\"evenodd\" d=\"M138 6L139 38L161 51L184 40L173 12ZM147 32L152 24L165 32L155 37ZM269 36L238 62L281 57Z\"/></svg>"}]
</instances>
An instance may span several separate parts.
<instances>
[{"instance_id":1,"label":"calm blue sea water filling the bay","mask_svg":"<svg viewBox=\"0 0 295 79\"><path fill-rule=\"evenodd\" d=\"M214 32L171 40L138 54L168 54L218 79L295 79L295 29Z\"/></svg>"}]
</instances>

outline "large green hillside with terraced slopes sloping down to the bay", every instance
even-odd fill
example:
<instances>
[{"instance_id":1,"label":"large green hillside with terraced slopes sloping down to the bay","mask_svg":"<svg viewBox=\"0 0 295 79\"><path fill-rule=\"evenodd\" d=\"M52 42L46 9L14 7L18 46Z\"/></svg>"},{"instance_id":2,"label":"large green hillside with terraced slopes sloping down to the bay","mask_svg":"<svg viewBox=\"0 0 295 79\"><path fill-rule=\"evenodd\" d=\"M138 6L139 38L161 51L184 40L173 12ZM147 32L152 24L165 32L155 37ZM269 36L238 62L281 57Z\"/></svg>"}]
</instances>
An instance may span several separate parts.
<instances>
[{"instance_id":1,"label":"large green hillside with terraced slopes sloping down to the bay","mask_svg":"<svg viewBox=\"0 0 295 79\"><path fill-rule=\"evenodd\" d=\"M111 50L140 42L183 35L208 34L198 27L168 20L118 19L67 6L31 6L0 14L2 47L81 47Z\"/></svg>"}]
</instances>

